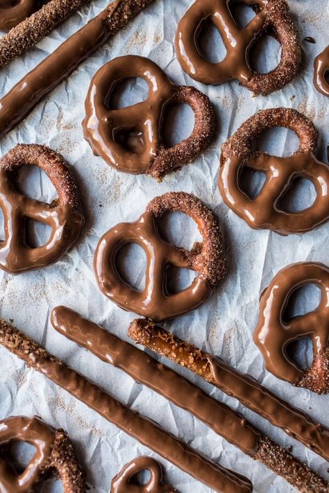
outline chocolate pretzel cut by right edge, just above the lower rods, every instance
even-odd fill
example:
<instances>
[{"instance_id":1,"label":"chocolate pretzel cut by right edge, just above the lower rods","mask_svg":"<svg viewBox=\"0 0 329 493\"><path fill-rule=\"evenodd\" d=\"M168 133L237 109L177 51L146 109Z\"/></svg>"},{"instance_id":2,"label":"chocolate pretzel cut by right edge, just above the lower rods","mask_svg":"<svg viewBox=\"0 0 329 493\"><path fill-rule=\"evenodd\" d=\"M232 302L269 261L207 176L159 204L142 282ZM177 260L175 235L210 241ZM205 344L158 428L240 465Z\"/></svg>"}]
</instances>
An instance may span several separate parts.
<instances>
[{"instance_id":1,"label":"chocolate pretzel cut by right edge, just above the lower rods","mask_svg":"<svg viewBox=\"0 0 329 493\"><path fill-rule=\"evenodd\" d=\"M285 320L285 309L292 293L305 284L321 289L317 309ZM312 338L313 363L299 368L287 353L289 343ZM298 387L318 394L329 392L329 269L317 262L294 263L280 270L260 299L260 318L255 343L269 372Z\"/></svg>"}]
</instances>

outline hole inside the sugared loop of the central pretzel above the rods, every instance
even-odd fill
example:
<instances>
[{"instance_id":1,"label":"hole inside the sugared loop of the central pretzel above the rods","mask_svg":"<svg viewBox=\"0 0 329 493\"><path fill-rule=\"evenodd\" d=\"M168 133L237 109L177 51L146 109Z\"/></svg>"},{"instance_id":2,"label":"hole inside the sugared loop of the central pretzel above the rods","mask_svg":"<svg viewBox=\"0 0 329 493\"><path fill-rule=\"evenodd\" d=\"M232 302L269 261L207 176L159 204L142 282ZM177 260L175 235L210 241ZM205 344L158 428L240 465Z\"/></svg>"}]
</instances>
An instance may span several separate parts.
<instances>
[{"instance_id":1,"label":"hole inside the sugared loop of the central pretzel above the rods","mask_svg":"<svg viewBox=\"0 0 329 493\"><path fill-rule=\"evenodd\" d=\"M162 239L178 248L192 250L194 243L202 241L196 222L183 212L166 212L157 219L157 227Z\"/></svg>"}]
</instances>

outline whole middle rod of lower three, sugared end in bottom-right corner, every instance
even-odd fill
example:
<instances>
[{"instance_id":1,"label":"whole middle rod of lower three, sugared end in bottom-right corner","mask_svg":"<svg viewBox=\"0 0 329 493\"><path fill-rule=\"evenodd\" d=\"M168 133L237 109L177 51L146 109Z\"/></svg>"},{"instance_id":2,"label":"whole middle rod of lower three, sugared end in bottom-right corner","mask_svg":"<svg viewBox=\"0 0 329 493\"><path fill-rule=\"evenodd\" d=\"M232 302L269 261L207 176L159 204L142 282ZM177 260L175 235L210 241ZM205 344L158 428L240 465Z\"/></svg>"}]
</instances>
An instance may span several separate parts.
<instances>
[{"instance_id":1,"label":"whole middle rod of lower three, sugared end in bottom-right corner","mask_svg":"<svg viewBox=\"0 0 329 493\"><path fill-rule=\"evenodd\" d=\"M89 349L101 361L119 367L130 377L155 390L176 406L189 411L215 433L239 447L248 456L259 459L276 474L298 487L301 492L320 492L323 491L323 487L328 487L325 481L296 460L287 450L262 435L242 415L213 399L165 365L158 363L146 352L108 333L99 325L85 320L65 306L53 309L51 322L60 334ZM279 465L282 463L285 463L284 468Z\"/></svg>"}]
</instances>

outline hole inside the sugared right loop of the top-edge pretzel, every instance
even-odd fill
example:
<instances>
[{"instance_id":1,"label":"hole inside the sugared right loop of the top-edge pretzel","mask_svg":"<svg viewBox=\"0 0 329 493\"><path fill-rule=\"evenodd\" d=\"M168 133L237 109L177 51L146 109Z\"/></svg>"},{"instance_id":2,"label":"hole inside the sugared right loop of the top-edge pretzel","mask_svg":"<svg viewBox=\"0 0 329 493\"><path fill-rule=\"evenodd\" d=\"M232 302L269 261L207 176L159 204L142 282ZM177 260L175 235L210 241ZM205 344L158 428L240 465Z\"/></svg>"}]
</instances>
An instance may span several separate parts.
<instances>
[{"instance_id":1,"label":"hole inside the sugared right loop of the top-edge pretzel","mask_svg":"<svg viewBox=\"0 0 329 493\"><path fill-rule=\"evenodd\" d=\"M275 37L264 35L248 51L248 62L255 72L269 73L278 67L281 51L281 45Z\"/></svg>"}]
</instances>

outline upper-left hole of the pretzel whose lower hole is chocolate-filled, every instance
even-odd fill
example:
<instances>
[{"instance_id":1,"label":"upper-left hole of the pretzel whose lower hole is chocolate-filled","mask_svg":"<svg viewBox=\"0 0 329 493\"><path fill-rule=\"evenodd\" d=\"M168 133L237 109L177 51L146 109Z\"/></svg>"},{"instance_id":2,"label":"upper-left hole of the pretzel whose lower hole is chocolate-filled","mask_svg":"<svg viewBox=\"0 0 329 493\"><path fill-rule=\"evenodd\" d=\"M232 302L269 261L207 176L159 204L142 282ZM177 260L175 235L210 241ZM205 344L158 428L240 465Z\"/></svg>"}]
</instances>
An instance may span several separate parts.
<instances>
[{"instance_id":1,"label":"upper-left hole of the pretzel whose lower hole is chocolate-filled","mask_svg":"<svg viewBox=\"0 0 329 493\"><path fill-rule=\"evenodd\" d=\"M128 77L115 85L106 101L109 110L133 106L145 101L149 95L149 86L142 77Z\"/></svg>"}]
</instances>

